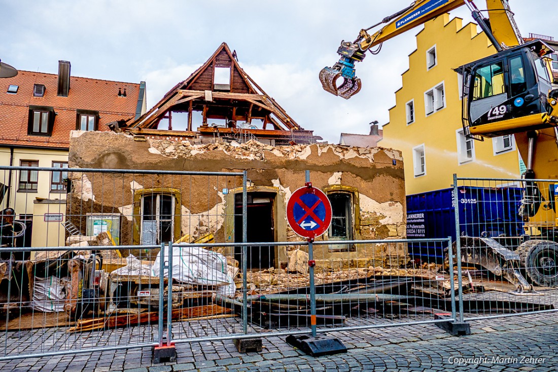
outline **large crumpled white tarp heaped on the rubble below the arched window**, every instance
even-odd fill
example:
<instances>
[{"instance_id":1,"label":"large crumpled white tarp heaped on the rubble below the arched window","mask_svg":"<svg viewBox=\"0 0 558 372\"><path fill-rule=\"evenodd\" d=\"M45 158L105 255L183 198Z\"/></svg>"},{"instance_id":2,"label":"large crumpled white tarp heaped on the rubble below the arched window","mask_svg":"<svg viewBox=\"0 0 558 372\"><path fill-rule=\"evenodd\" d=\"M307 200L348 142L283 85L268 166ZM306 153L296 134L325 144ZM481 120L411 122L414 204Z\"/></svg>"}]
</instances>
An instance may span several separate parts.
<instances>
[{"instance_id":1,"label":"large crumpled white tarp heaped on the rubble below the arched window","mask_svg":"<svg viewBox=\"0 0 558 372\"><path fill-rule=\"evenodd\" d=\"M169 261L169 246L163 250L165 263ZM161 253L157 254L151 269L152 276L159 276ZM168 270L163 272L165 278ZM233 296L236 291L233 278L227 273L224 255L200 247L172 247L172 279L182 283L218 287L219 294Z\"/></svg>"}]
</instances>

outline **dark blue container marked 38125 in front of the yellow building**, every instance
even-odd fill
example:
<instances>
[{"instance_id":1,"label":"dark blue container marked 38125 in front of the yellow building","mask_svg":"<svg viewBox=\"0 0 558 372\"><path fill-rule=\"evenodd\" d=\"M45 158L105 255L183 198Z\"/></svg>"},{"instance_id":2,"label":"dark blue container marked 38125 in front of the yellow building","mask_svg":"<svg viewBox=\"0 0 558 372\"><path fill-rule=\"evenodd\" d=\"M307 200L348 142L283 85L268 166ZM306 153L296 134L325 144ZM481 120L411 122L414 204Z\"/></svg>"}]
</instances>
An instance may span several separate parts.
<instances>
[{"instance_id":1,"label":"dark blue container marked 38125 in front of the yellow building","mask_svg":"<svg viewBox=\"0 0 558 372\"><path fill-rule=\"evenodd\" d=\"M407 195L407 238L451 238L455 241L454 189L442 189ZM461 234L490 236L523 234L518 214L522 189L519 187L472 187L458 189ZM444 252L439 243L409 244L413 259L438 261Z\"/></svg>"}]
</instances>

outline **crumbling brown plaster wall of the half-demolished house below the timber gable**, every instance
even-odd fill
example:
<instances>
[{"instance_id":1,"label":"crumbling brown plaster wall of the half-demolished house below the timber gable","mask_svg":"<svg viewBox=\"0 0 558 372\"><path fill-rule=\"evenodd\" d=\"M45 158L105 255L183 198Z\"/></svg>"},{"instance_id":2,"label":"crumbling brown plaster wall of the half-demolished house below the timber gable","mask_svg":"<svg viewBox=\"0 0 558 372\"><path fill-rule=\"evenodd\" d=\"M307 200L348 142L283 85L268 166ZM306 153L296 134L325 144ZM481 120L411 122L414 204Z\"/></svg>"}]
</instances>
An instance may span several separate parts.
<instances>
[{"instance_id":1,"label":"crumbling brown plaster wall of the half-demolished house below the timber gable","mask_svg":"<svg viewBox=\"0 0 558 372\"><path fill-rule=\"evenodd\" d=\"M138 141L138 139L140 141ZM405 237L405 185L401 153L392 149L357 148L332 144L295 144L270 146L257 141L247 143L191 144L179 137L154 139L133 138L123 133L74 132L70 139L70 167L117 168L138 170L247 171L248 191L261 187L276 192L276 206L286 201L304 186L305 171L310 170L312 184L319 189L339 186L357 190L358 210L354 211L355 238L397 239ZM95 176L98 180L99 176ZM234 192L239 192L239 180L215 177L208 182L192 178L192 182L171 185L171 176L149 178L122 176L122 189L107 190L106 185L91 180L74 185L70 205L88 203L92 211L120 211L125 217L122 244L131 244L133 223L131 204L134 192L142 187L178 187L181 190L181 234L194 238L214 233L215 241L232 241L225 225L230 224L227 207L234 204ZM238 177L237 177L238 178ZM229 191L225 193L224 190ZM112 194L111 194L112 192ZM119 194L119 195L113 195ZM281 201L278 203L277 201ZM234 209L233 209L234 210ZM71 210L69 211L71 213ZM75 212L75 211L74 211ZM275 240L300 241L286 223L286 211L276 210ZM328 240L327 233L318 240ZM407 260L403 244L358 244L355 250L334 252L327 246L317 248L317 265L325 269L338 267L398 266ZM292 249L292 248L291 248ZM278 263L286 265L290 248L277 248Z\"/></svg>"}]
</instances>

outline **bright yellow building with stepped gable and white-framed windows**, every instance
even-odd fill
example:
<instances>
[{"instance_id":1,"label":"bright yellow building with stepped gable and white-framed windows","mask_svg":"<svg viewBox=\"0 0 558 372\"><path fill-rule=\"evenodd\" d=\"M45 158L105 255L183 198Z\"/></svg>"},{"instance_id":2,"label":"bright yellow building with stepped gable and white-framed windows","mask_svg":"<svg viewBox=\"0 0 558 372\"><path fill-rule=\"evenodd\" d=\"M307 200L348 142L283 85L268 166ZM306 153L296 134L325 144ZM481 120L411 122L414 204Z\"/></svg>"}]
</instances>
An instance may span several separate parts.
<instances>
[{"instance_id":1,"label":"bright yellow building with stepped gable and white-framed windows","mask_svg":"<svg viewBox=\"0 0 558 372\"><path fill-rule=\"evenodd\" d=\"M445 14L425 23L409 55L396 105L383 127L382 147L402 151L406 194L446 189L452 175L517 178L513 136L467 139L461 127L461 76L453 69L496 53L477 25Z\"/></svg>"}]
</instances>

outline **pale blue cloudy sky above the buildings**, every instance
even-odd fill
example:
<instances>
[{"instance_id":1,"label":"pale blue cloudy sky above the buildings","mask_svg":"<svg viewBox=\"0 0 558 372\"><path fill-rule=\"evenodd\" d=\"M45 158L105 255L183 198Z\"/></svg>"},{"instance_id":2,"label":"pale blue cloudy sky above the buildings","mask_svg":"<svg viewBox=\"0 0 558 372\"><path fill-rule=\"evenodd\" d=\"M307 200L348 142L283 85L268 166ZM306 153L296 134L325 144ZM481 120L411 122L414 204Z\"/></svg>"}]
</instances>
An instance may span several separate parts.
<instances>
[{"instance_id":1,"label":"pale blue cloudy sky above the buildings","mask_svg":"<svg viewBox=\"0 0 558 372\"><path fill-rule=\"evenodd\" d=\"M240 65L305 129L329 142L341 132L387 123L393 92L415 49L416 28L358 64L363 89L350 100L326 93L320 69L338 60L341 40L408 6L408 0L0 0L0 59L19 70L147 83L150 108L227 42ZM485 8L483 0L476 2ZM523 36L558 37L551 0L510 0ZM542 18L542 15L549 18ZM466 7L452 16L471 21Z\"/></svg>"}]
</instances>

